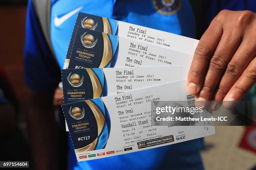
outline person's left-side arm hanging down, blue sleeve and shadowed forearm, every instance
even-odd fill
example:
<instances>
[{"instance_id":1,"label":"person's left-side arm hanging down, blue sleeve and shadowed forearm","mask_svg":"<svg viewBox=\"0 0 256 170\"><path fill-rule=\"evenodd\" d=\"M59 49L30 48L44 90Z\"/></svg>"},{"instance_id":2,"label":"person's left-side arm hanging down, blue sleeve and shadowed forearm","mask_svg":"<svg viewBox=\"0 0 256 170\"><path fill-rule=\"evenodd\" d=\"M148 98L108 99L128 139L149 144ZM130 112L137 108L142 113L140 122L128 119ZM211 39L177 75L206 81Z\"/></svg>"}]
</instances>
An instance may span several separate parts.
<instances>
[{"instance_id":1,"label":"person's left-side arm hanging down, blue sleeve and shadowed forearm","mask_svg":"<svg viewBox=\"0 0 256 170\"><path fill-rule=\"evenodd\" d=\"M58 141L52 101L61 72L44 38L31 0L28 1L26 18L24 64L25 81L31 89L27 120L33 164L36 170L56 170Z\"/></svg>"}]
</instances>

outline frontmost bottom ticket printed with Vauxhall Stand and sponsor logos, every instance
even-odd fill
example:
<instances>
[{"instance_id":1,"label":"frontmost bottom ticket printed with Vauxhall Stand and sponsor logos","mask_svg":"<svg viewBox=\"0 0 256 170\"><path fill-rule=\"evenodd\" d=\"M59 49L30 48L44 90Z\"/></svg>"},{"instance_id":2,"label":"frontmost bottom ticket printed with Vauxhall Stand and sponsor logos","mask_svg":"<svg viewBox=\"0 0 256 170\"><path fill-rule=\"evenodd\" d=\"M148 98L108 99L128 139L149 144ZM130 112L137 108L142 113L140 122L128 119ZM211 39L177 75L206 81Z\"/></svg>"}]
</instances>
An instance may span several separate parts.
<instances>
[{"instance_id":1,"label":"frontmost bottom ticket printed with Vauxhall Stand and sponsor logos","mask_svg":"<svg viewBox=\"0 0 256 170\"><path fill-rule=\"evenodd\" d=\"M106 158L214 134L214 126L156 126L151 101L187 101L186 81L62 105L78 161Z\"/></svg>"}]
</instances>

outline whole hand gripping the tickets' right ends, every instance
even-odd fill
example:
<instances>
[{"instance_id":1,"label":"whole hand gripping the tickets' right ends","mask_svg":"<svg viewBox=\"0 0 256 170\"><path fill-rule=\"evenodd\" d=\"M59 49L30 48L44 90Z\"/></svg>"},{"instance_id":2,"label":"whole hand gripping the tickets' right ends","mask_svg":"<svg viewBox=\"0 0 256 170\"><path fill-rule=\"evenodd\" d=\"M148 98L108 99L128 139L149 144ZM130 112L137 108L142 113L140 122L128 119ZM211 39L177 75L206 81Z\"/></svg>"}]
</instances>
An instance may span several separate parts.
<instances>
[{"instance_id":1,"label":"whole hand gripping the tickets' right ends","mask_svg":"<svg viewBox=\"0 0 256 170\"><path fill-rule=\"evenodd\" d=\"M197 101L239 101L256 82L256 14L222 10L197 45L187 90ZM232 107L234 102L223 103ZM216 107L212 105L212 109Z\"/></svg>"}]
</instances>

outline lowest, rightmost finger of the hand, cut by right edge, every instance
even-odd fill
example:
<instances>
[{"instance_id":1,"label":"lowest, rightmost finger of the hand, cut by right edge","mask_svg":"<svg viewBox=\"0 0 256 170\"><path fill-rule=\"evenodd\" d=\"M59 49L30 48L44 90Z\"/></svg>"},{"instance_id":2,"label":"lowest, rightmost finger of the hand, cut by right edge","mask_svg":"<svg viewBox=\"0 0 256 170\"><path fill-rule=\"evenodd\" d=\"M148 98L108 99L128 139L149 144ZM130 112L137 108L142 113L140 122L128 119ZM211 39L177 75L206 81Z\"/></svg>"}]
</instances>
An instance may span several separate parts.
<instances>
[{"instance_id":1,"label":"lowest, rightmost finger of the hand, cut by right edge","mask_svg":"<svg viewBox=\"0 0 256 170\"><path fill-rule=\"evenodd\" d=\"M254 55L253 60L250 62L246 70L243 71L241 77L235 82L231 87L228 94L225 96L223 101L224 107L232 108L235 104L235 101L241 100L247 92L255 85L256 83L256 57Z\"/></svg>"}]
</instances>

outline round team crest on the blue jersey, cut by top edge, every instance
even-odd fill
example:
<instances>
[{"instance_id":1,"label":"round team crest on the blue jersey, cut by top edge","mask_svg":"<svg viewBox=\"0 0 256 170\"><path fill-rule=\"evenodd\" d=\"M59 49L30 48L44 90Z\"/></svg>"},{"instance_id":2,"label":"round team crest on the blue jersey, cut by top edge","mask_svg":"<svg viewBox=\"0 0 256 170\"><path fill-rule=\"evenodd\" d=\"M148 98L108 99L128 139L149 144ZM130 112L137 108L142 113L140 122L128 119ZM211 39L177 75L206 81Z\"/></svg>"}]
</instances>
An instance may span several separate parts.
<instances>
[{"instance_id":1,"label":"round team crest on the blue jersey, cut by top edge","mask_svg":"<svg viewBox=\"0 0 256 170\"><path fill-rule=\"evenodd\" d=\"M181 0L152 0L154 8L162 15L173 15L179 11Z\"/></svg>"}]
</instances>

